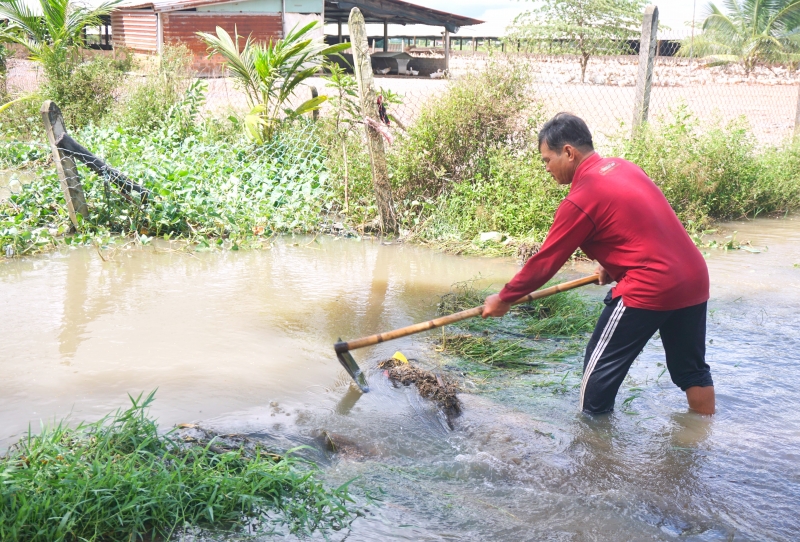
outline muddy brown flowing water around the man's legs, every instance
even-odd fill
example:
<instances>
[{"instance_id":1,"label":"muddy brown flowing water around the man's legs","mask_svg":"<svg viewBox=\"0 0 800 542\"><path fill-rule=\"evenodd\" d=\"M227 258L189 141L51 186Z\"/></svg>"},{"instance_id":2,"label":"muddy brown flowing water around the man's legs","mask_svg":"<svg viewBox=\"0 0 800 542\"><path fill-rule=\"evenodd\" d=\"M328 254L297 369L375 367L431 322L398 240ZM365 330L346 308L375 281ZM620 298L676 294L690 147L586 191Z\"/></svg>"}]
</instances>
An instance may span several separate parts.
<instances>
[{"instance_id":1,"label":"muddy brown flowing water around the man's legs","mask_svg":"<svg viewBox=\"0 0 800 542\"><path fill-rule=\"evenodd\" d=\"M453 283L500 286L516 265L282 239L258 252L158 245L1 262L0 447L42 419L97 419L158 388L164 427L312 444L330 483L356 478L361 502L376 502L336 540L797 540L800 218L726 228L761 252L708 251L713 418L687 412L657 338L610 417L576 412L574 385L513 379L462 394L453 430L380 371L361 395L333 354L338 337L429 318ZM397 349L440 362L420 336L354 355L370 368Z\"/></svg>"}]
</instances>

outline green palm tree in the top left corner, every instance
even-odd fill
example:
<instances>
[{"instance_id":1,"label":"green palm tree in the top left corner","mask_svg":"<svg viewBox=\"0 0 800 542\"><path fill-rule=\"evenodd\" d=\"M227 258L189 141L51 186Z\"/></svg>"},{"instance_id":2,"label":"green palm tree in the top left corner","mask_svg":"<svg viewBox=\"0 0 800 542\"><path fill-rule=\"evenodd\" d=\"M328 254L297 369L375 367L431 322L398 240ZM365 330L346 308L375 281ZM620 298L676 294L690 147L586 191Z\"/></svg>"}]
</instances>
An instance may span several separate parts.
<instances>
[{"instance_id":1,"label":"green palm tree in the top left corner","mask_svg":"<svg viewBox=\"0 0 800 542\"><path fill-rule=\"evenodd\" d=\"M36 9L25 0L0 0L0 19L8 21L0 41L25 47L48 77L65 76L74 65L70 60L84 45L84 29L100 26L100 18L110 14L120 1L88 8L72 0L39 0Z\"/></svg>"}]
</instances>

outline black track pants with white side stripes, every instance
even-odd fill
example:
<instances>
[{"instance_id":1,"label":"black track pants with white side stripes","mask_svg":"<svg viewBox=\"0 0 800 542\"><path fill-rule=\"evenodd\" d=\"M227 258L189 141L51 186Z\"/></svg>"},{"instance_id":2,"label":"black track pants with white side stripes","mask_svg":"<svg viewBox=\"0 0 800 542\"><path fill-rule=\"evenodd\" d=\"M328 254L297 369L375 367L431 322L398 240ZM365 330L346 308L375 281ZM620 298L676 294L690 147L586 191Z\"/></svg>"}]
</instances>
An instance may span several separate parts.
<instances>
[{"instance_id":1,"label":"black track pants with white side stripes","mask_svg":"<svg viewBox=\"0 0 800 542\"><path fill-rule=\"evenodd\" d=\"M617 391L636 356L656 331L667 355L667 370L676 386L713 386L705 362L706 303L674 311L626 307L622 298L605 300L583 360L580 408L599 414L614 410Z\"/></svg>"}]
</instances>

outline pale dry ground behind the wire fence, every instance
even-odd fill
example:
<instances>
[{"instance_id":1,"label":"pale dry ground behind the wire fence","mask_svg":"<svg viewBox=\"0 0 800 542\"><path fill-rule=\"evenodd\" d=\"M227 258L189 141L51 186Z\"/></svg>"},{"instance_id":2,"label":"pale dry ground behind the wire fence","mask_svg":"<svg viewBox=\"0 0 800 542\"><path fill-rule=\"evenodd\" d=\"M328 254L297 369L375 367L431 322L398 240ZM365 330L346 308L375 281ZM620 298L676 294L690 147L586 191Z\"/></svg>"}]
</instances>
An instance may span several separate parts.
<instances>
[{"instance_id":1,"label":"pale dry ground behind the wire fence","mask_svg":"<svg viewBox=\"0 0 800 542\"><path fill-rule=\"evenodd\" d=\"M541 103L545 115L570 111L582 116L596 133L601 148L610 137L629 133L633 119L635 58L593 59L584 83L580 82L580 70L572 59L523 60L531 62L533 71L531 103ZM501 58L500 61L511 60ZM456 56L452 60L453 76L463 77L481 69L486 62L485 55ZM14 58L9 68L10 91L24 93L38 87L41 74L32 63ZM444 92L448 84L445 80L406 76L378 76L375 80L378 87L390 89L402 97L403 103L393 105L390 112L406 125L414 121L428 100ZM246 110L244 95L230 79L208 79L207 84L208 112ZM321 78L310 80L309 85L315 86L320 94L332 92ZM653 122L669 121L680 106L685 106L704 122L726 123L744 117L759 142L777 144L793 133L799 90L798 74L780 68L761 68L747 75L738 67L707 68L696 62L662 59L656 62L654 70L649 118ZM298 102L310 96L310 89L306 89L298 96Z\"/></svg>"}]
</instances>

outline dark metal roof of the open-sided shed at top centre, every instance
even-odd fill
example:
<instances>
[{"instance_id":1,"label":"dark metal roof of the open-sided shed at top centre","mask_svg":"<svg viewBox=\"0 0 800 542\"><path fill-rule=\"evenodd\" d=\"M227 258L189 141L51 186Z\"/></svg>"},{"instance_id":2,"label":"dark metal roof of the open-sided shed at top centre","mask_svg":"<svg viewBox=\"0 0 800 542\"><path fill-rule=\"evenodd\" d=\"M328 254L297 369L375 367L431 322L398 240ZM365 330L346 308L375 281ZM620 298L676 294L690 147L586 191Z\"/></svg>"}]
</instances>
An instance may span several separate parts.
<instances>
[{"instance_id":1,"label":"dark metal roof of the open-sided shed at top centre","mask_svg":"<svg viewBox=\"0 0 800 542\"><path fill-rule=\"evenodd\" d=\"M346 23L350 10L358 8L367 23L424 24L443 26L450 32L483 21L403 2L402 0L325 0L325 22Z\"/></svg>"}]
</instances>

